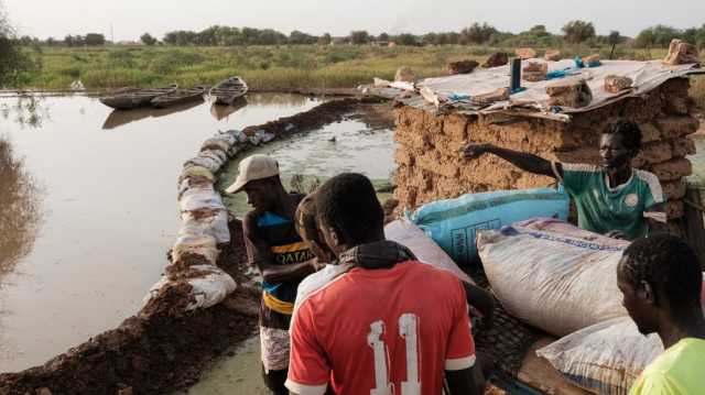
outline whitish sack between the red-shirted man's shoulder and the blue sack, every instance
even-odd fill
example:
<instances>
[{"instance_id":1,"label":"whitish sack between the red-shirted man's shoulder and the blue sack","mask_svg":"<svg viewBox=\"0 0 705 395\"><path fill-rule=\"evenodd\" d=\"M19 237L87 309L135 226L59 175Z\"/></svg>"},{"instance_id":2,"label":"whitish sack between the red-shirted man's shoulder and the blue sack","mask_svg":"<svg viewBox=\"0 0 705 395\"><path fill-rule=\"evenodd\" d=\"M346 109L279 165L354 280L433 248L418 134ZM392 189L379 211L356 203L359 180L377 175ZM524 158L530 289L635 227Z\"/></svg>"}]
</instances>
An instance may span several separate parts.
<instances>
[{"instance_id":1,"label":"whitish sack between the red-shirted man's shoulder and the blue sack","mask_svg":"<svg viewBox=\"0 0 705 395\"><path fill-rule=\"evenodd\" d=\"M474 284L470 277L453 262L424 231L405 219L398 219L384 227L384 237L405 245L416 259L436 268L453 273L460 281Z\"/></svg>"}]
</instances>

